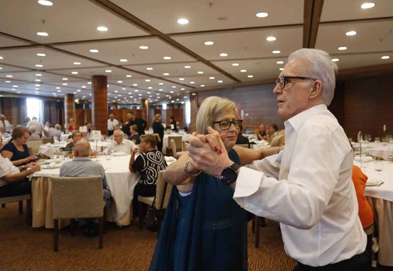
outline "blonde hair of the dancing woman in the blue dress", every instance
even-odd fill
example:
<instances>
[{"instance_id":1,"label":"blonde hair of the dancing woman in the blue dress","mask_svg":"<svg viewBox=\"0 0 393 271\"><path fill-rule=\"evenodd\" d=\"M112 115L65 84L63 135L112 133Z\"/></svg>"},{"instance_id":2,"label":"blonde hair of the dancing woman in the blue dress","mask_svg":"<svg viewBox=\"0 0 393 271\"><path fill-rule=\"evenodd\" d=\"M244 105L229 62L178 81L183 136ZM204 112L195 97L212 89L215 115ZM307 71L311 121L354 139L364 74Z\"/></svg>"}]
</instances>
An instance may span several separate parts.
<instances>
[{"instance_id":1,"label":"blonde hair of the dancing woman in the blue dress","mask_svg":"<svg viewBox=\"0 0 393 271\"><path fill-rule=\"evenodd\" d=\"M239 112L233 101L217 96L204 99L197 114L197 133L207 134L207 127L213 126L214 118L225 111L233 111L236 118L239 118Z\"/></svg>"}]
</instances>

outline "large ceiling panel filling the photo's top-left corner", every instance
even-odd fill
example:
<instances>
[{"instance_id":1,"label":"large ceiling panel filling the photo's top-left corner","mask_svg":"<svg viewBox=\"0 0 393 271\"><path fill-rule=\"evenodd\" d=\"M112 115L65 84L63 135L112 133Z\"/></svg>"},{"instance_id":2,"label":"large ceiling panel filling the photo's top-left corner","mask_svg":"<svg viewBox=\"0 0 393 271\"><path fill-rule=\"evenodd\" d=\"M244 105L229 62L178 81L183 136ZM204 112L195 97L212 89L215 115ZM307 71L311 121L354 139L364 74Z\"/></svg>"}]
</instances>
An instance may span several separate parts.
<instances>
[{"instance_id":1,"label":"large ceiling panel filling the photo's top-left corner","mask_svg":"<svg viewBox=\"0 0 393 271\"><path fill-rule=\"evenodd\" d=\"M53 1L53 6L43 6L36 0L2 0L1 6L0 32L39 43L146 35L90 1ZM109 30L98 31L98 26ZM38 36L37 32L49 35Z\"/></svg>"}]
</instances>

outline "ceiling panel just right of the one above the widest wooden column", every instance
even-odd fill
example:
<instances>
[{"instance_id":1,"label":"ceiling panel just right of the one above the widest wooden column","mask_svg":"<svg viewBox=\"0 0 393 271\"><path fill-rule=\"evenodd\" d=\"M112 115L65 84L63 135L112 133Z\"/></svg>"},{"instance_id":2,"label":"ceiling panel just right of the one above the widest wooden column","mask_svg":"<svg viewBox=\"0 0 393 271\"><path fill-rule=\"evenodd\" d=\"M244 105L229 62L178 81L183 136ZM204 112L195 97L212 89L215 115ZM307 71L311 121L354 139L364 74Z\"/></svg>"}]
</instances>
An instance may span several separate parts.
<instances>
[{"instance_id":1,"label":"ceiling panel just right of the one above the widest wooden column","mask_svg":"<svg viewBox=\"0 0 393 271\"><path fill-rule=\"evenodd\" d=\"M203 74L217 74L218 72L213 68L203 64L202 62L181 62L168 64L146 64L138 66L125 66L130 69L140 71L142 73L151 74L166 78L168 76L193 76L198 75L198 72ZM153 68L153 70L147 70ZM168 74L168 75L167 75Z\"/></svg>"}]
</instances>

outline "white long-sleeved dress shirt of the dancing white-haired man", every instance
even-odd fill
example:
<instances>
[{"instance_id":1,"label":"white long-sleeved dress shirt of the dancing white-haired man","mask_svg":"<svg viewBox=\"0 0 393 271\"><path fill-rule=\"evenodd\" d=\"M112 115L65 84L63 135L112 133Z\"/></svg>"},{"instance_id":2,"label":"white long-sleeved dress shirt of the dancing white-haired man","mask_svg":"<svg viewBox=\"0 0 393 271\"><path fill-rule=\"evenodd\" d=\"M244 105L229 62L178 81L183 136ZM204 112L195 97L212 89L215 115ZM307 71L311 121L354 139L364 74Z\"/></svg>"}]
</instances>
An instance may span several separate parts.
<instances>
[{"instance_id":1,"label":"white long-sleeved dress shirt of the dancing white-haired man","mask_svg":"<svg viewBox=\"0 0 393 271\"><path fill-rule=\"evenodd\" d=\"M326 105L285 123L285 149L241 167L233 198L247 211L280 222L286 253L325 266L365 251L352 183L353 154Z\"/></svg>"}]
</instances>

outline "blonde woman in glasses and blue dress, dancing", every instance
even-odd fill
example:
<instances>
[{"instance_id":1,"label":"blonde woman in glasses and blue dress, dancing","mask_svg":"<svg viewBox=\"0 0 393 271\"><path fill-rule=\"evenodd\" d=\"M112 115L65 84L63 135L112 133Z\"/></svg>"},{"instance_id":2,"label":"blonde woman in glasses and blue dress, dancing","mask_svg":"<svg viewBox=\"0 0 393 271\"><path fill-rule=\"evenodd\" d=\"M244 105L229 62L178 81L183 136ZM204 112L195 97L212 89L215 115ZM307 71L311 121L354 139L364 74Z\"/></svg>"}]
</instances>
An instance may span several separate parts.
<instances>
[{"instance_id":1,"label":"blonde woman in glasses and blue dress, dancing","mask_svg":"<svg viewBox=\"0 0 393 271\"><path fill-rule=\"evenodd\" d=\"M245 165L276 154L280 148L236 147L242 120L234 102L220 97L203 100L197 114L198 137L213 129L222 134L229 158ZM197 147L196 147L197 148ZM223 174L235 172L226 168ZM170 164L164 179L174 185L149 271L247 270L247 212L234 200L225 178L199 172L188 152Z\"/></svg>"}]
</instances>

